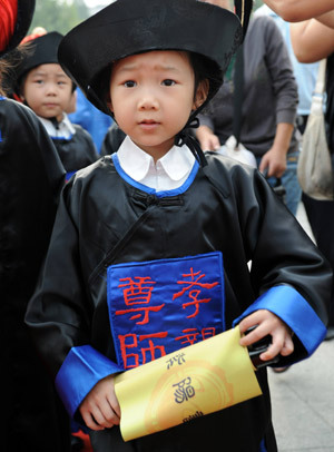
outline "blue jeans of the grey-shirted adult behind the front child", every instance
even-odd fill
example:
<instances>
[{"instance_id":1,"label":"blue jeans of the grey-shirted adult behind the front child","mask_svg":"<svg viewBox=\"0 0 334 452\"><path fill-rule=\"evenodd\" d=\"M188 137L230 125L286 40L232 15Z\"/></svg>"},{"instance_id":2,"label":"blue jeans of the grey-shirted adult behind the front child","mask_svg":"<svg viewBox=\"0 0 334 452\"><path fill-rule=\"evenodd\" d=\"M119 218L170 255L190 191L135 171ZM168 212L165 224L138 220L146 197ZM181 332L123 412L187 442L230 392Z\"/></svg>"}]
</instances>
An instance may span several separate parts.
<instances>
[{"instance_id":1,"label":"blue jeans of the grey-shirted adult behind the front child","mask_svg":"<svg viewBox=\"0 0 334 452\"><path fill-rule=\"evenodd\" d=\"M286 189L285 204L293 215L296 215L299 200L302 198L302 189L297 179L297 163L299 151L287 154L286 156L286 170L281 180ZM259 165L261 157L256 158L257 166ZM269 177L268 183L274 186L276 184L275 177Z\"/></svg>"}]
</instances>

